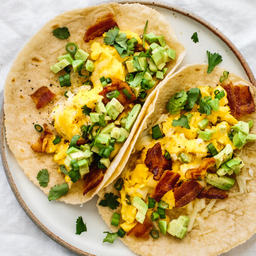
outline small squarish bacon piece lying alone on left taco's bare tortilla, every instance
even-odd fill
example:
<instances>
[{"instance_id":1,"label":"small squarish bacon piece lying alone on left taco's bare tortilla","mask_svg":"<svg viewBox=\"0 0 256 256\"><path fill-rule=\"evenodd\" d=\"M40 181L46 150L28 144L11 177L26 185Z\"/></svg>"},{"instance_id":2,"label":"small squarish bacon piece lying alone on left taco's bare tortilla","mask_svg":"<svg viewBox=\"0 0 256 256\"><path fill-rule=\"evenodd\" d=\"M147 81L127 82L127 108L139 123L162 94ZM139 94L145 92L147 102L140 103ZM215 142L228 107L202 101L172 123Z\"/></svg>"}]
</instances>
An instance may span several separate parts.
<instances>
[{"instance_id":1,"label":"small squarish bacon piece lying alone on left taco's bare tortilla","mask_svg":"<svg viewBox=\"0 0 256 256\"><path fill-rule=\"evenodd\" d=\"M31 94L30 97L35 102L36 108L43 108L49 101L51 101L56 96L52 93L49 88L42 86L38 88L35 93Z\"/></svg>"}]
</instances>

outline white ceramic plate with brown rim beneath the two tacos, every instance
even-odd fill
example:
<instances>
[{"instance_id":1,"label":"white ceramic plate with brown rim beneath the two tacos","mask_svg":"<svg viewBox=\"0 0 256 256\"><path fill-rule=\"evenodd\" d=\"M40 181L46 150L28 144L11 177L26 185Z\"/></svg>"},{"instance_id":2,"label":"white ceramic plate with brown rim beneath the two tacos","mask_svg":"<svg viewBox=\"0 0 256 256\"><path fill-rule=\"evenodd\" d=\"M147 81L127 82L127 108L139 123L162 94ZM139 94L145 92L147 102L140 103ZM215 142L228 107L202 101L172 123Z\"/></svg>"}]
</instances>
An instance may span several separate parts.
<instances>
[{"instance_id":1,"label":"white ceramic plate with brown rim beneath the two tacos","mask_svg":"<svg viewBox=\"0 0 256 256\"><path fill-rule=\"evenodd\" d=\"M155 8L169 20L180 42L187 49L186 57L180 67L186 64L207 62L207 50L218 52L223 58L219 66L228 67L229 71L255 84L253 74L244 58L231 42L216 31L213 26L182 9L169 5L164 6L163 4L157 5L162 6L155 6ZM215 35L212 31L218 35ZM197 44L190 39L194 32L198 32L199 43ZM3 116L1 120L1 125L3 125ZM25 212L44 233L80 255L90 253L97 256L119 256L121 251L122 255L137 255L122 244L119 239L116 239L114 245L102 243L106 236L103 232L109 231L109 229L98 214L96 208L97 196L81 206L67 205L56 201L49 202L47 196L24 175L6 145L5 138L4 145L5 149L1 153L5 153L6 159L2 154L3 164L13 192ZM87 223L88 230L80 236L75 234L76 219L79 216L82 216L84 222ZM241 254L234 252L232 255L239 256Z\"/></svg>"}]
</instances>

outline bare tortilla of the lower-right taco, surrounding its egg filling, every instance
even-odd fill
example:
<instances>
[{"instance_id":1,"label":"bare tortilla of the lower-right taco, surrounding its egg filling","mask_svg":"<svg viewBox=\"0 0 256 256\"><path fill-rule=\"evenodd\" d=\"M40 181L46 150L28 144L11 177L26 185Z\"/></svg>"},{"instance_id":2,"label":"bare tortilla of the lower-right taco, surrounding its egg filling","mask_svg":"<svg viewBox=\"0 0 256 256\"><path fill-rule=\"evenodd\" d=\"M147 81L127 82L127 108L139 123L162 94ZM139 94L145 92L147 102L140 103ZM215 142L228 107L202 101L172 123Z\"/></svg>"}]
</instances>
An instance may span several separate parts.
<instances>
[{"instance_id":1,"label":"bare tortilla of the lower-right taco, surrounding its egg filling","mask_svg":"<svg viewBox=\"0 0 256 256\"><path fill-rule=\"evenodd\" d=\"M135 153L136 146L140 147L140 145L135 144L137 138L145 135L145 130L151 127L160 115L167 113L166 104L175 93L182 89L186 91L192 87L207 85L215 87L216 84L220 84L219 79L225 70L220 67L215 67L212 73L208 74L207 67L207 64L187 65L166 79L164 83L158 87L154 102L152 102L146 117L138 128L137 135L130 144L130 151L127 152L128 154L130 154L132 150L133 153ZM229 73L228 79L224 80L221 84L229 84L230 81L232 81L233 85L249 86L250 92L255 100L256 88L253 87L252 84L234 73ZM255 112L250 115L244 115L239 120L249 121L250 119L253 119L254 122L256 121ZM253 126L251 132L253 134L256 133L256 125ZM135 253L143 256L215 256L244 243L256 232L255 151L255 142L245 144L241 155L244 163L250 165L254 173L253 177L247 174L247 176L251 178L251 180L247 180L246 183L248 195L245 196L244 194L236 197L229 197L225 200L217 200L215 207L226 205L226 208L215 212L204 219L206 224L205 230L200 230L198 226L194 227L186 234L184 239L179 239L166 233L166 235L159 234L158 239L153 239L151 236L149 236L148 240L138 239L135 236L124 236L121 238L121 241L127 244ZM140 152L132 154L125 169L134 169L134 163L139 157ZM125 169L123 172L125 172ZM115 182L111 183L108 187L99 192L100 198L97 205L102 198L104 198L105 193L113 192L115 195L119 195L118 191L113 186L114 183ZM238 191L239 187L237 183L235 183L235 185L228 191L228 194ZM113 210L99 205L98 209L106 224L108 224L113 232L116 232L119 227L111 225ZM120 212L120 210L121 206L119 206L115 212ZM174 208L172 210L167 210L166 214L169 215L172 220L177 218L182 211L182 208Z\"/></svg>"}]
</instances>

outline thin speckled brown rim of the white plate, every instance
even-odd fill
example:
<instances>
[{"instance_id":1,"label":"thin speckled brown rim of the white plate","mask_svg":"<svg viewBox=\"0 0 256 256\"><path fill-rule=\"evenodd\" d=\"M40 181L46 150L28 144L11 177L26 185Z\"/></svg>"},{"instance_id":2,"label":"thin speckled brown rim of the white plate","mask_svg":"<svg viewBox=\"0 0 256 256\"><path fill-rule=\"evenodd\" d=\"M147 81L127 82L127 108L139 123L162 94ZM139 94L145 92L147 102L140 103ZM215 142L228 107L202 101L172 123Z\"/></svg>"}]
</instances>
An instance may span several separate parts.
<instances>
[{"instance_id":1,"label":"thin speckled brown rim of the white plate","mask_svg":"<svg viewBox=\"0 0 256 256\"><path fill-rule=\"evenodd\" d=\"M104 1L105 3L106 1ZM157 6L161 7L164 9L168 9L173 12L180 13L181 15L184 15L186 17L192 18L193 20L197 21L201 25L205 26L207 29L209 29L211 32L213 32L215 35L218 36L227 46L232 50L232 52L236 55L236 58L239 60L241 63L241 66L243 67L249 81L253 86L256 86L256 80L255 77L253 76L252 70L250 69L249 65L245 61L244 57L241 55L241 52L235 47L235 45L221 32L219 31L215 26L210 24L208 21L204 20L203 18L199 17L198 15L195 15L191 12L188 12L186 9L173 6L169 3L164 3L162 1L134 1L134 0L120 0L120 1L107 1L107 2L117 2L117 3L140 3L148 6ZM56 236L54 233L52 233L47 227L45 227L39 220L38 218L35 217L35 215L30 211L30 209L27 207L26 203L23 201L23 198L20 196L20 193L17 190L16 184L12 178L12 174L9 170L9 166L6 160L6 155L5 155L5 146L4 146L4 134L5 134L5 128L4 128L4 111L3 111L3 103L1 106L1 113L0 113L0 154L1 154L1 159L3 163L3 168L6 174L6 178L9 182L9 185L12 189L12 192L15 195L15 198L17 199L18 203L26 212L26 214L29 216L29 218L35 223L35 225L42 230L49 238L51 238L53 241L57 242L61 246L77 253L78 255L81 256L95 256L93 254L87 253L83 250L80 250L76 247L74 247L71 244L68 244L66 241L62 240L58 236Z\"/></svg>"}]
</instances>

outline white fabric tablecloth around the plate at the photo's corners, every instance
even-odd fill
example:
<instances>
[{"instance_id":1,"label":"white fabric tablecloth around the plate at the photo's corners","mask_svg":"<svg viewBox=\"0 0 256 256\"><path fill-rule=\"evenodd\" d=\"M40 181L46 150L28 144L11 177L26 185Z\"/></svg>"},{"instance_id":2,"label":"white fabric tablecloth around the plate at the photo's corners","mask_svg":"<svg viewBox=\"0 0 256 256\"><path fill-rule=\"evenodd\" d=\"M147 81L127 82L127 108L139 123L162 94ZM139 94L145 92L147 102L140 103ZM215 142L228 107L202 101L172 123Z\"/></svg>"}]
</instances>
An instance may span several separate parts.
<instances>
[{"instance_id":1,"label":"white fabric tablecloth around the plate at the photo's corners","mask_svg":"<svg viewBox=\"0 0 256 256\"><path fill-rule=\"evenodd\" d=\"M0 0L0 102L6 76L17 53L49 19L99 0ZM187 9L224 33L256 74L256 0L165 0ZM256 236L222 256L254 256ZM0 255L75 256L46 236L18 204L0 163Z\"/></svg>"}]
</instances>

